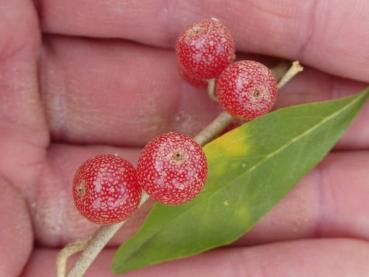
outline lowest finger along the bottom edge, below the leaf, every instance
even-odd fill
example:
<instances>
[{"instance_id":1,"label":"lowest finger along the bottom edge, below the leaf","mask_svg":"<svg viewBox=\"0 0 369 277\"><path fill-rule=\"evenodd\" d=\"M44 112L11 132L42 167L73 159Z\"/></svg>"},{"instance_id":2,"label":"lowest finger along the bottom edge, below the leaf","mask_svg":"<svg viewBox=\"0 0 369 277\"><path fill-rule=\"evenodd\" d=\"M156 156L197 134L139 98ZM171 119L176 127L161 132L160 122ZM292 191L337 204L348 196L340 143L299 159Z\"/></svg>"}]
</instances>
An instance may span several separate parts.
<instances>
[{"instance_id":1,"label":"lowest finger along the bottom edge, below the leaf","mask_svg":"<svg viewBox=\"0 0 369 277\"><path fill-rule=\"evenodd\" d=\"M105 250L87 271L88 276L113 276L110 264L114 250ZM38 250L25 274L52 276L55 250ZM367 276L367 242L349 239L303 240L248 248L222 249L202 255L147 267L125 274L151 276Z\"/></svg>"}]
</instances>

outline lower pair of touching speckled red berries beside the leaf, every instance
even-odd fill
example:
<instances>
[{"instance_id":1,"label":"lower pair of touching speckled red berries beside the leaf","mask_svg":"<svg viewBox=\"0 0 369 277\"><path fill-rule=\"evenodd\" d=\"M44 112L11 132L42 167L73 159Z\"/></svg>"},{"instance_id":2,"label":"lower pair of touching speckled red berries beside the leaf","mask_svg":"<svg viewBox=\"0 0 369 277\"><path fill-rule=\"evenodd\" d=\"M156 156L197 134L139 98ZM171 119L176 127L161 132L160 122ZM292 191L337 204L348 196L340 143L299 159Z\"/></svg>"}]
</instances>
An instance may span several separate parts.
<instances>
[{"instance_id":1,"label":"lower pair of touching speckled red berries beside the leaf","mask_svg":"<svg viewBox=\"0 0 369 277\"><path fill-rule=\"evenodd\" d=\"M85 161L74 176L74 203L92 222L117 223L136 210L142 190L167 205L190 201L204 187L207 168L201 146L191 137L163 134L145 146L137 169L118 155Z\"/></svg>"}]
</instances>

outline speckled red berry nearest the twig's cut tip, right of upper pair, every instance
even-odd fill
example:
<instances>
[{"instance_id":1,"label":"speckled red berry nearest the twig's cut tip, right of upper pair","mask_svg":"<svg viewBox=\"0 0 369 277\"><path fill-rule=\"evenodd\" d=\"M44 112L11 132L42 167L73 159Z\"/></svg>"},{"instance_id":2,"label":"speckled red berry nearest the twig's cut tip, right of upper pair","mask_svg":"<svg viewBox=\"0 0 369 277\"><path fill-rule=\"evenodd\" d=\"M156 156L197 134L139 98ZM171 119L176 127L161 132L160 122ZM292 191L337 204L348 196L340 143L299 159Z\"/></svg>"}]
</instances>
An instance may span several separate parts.
<instances>
[{"instance_id":1,"label":"speckled red berry nearest the twig's cut tip, right of upper pair","mask_svg":"<svg viewBox=\"0 0 369 277\"><path fill-rule=\"evenodd\" d=\"M252 120L269 112L277 99L277 81L272 71L255 61L229 65L216 84L219 104L231 115Z\"/></svg>"}]
</instances>

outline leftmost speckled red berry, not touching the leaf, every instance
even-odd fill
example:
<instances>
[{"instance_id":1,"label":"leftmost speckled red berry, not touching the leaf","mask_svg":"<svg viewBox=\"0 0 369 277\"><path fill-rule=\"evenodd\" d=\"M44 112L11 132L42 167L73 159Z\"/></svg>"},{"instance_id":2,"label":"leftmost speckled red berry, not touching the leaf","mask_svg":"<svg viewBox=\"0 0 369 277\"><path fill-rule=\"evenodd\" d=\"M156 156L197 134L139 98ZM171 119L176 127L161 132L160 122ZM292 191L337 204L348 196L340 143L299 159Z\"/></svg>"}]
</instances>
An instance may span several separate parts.
<instances>
[{"instance_id":1,"label":"leftmost speckled red berry, not touching the leaf","mask_svg":"<svg viewBox=\"0 0 369 277\"><path fill-rule=\"evenodd\" d=\"M85 161L74 176L75 206L94 223L113 224L127 219L140 198L136 169L119 156L98 155Z\"/></svg>"}]
</instances>

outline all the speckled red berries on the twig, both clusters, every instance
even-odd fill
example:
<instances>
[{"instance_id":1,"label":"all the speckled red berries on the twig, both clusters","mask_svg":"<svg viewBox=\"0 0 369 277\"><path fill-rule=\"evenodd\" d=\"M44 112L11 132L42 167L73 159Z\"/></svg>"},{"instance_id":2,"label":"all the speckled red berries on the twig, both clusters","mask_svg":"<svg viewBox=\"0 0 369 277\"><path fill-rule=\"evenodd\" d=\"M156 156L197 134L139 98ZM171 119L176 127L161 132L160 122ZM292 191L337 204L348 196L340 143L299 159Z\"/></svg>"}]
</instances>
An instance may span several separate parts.
<instances>
[{"instance_id":1,"label":"all the speckled red berries on the twig, both clusters","mask_svg":"<svg viewBox=\"0 0 369 277\"><path fill-rule=\"evenodd\" d=\"M251 120L271 110L277 97L272 72L254 61L235 59L230 31L216 18L192 25L176 44L180 73L194 86L216 79L216 97L232 116ZM167 133L143 149L137 169L117 155L84 162L73 180L77 209L89 220L112 224L127 219L142 190L168 205L193 199L204 187L207 160L192 138Z\"/></svg>"}]
</instances>

